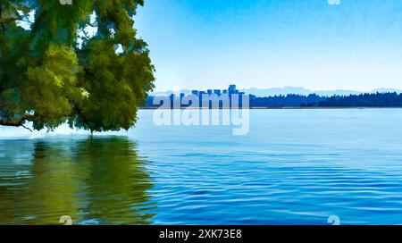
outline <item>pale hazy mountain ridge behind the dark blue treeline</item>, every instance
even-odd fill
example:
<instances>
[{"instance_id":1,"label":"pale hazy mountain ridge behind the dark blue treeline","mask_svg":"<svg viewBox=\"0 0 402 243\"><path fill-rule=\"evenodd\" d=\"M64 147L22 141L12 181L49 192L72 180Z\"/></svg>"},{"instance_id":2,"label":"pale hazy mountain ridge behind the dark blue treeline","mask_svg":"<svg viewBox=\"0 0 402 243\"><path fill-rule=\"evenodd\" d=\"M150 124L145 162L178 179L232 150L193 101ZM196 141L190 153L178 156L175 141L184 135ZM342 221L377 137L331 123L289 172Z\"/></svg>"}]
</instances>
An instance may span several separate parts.
<instances>
[{"instance_id":1,"label":"pale hazy mountain ridge behind the dark blue treeline","mask_svg":"<svg viewBox=\"0 0 402 243\"><path fill-rule=\"evenodd\" d=\"M347 89L336 89L336 90L311 90L307 88L301 88L301 87L284 87L284 88L246 88L246 89L240 89L240 92L245 92L246 94L249 95L254 95L258 97L267 97L267 96L286 96L289 94L294 94L294 95L303 95L303 96L308 96L310 94L316 94L319 96L348 96L348 95L359 95L359 94L364 94L364 93L393 93L396 92L398 94L402 93L402 89L397 89L397 88L377 88L373 89L372 91L369 92L364 92L364 91L357 91L357 90L347 90ZM189 89L182 89L179 91L172 91L168 90L165 92L154 92L151 93L151 96L170 96L172 94L191 94L191 90Z\"/></svg>"}]
</instances>

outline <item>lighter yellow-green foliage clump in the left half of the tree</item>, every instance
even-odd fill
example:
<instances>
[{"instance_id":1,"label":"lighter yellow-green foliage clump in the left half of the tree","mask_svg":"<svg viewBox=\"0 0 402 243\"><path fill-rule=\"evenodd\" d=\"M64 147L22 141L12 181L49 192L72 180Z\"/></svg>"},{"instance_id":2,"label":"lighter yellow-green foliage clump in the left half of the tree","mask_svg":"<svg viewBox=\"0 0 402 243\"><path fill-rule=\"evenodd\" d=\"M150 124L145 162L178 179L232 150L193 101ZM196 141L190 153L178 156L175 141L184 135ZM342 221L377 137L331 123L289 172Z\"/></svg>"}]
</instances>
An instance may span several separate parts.
<instances>
[{"instance_id":1,"label":"lighter yellow-green foliage clump in the left half of the tree","mask_svg":"<svg viewBox=\"0 0 402 243\"><path fill-rule=\"evenodd\" d=\"M54 128L71 114L71 100L80 100L77 86L80 72L78 58L72 49L49 46L40 66L28 67L28 83L21 88L29 110L35 111L34 128Z\"/></svg>"}]
</instances>

